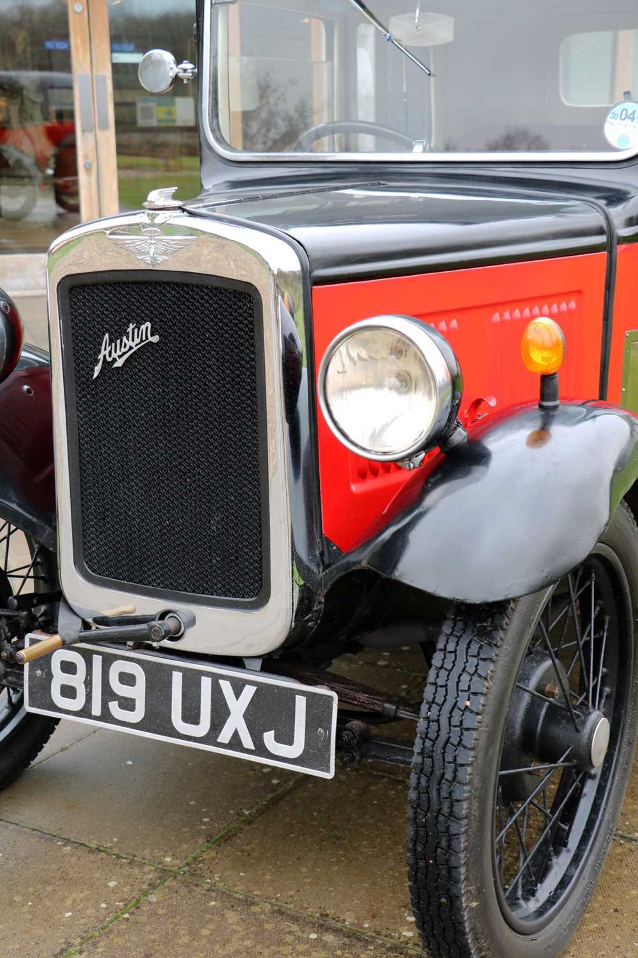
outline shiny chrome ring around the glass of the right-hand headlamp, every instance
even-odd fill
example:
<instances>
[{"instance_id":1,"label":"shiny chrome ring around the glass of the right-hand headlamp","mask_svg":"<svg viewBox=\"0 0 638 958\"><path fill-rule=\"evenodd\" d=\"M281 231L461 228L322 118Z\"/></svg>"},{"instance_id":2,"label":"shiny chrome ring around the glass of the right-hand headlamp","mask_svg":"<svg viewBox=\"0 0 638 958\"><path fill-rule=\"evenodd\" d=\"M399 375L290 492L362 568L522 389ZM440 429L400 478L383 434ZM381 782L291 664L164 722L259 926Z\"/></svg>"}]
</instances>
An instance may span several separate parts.
<instances>
[{"instance_id":1,"label":"shiny chrome ring around the glass of the right-hand headlamp","mask_svg":"<svg viewBox=\"0 0 638 958\"><path fill-rule=\"evenodd\" d=\"M411 445L392 452L375 452L354 443L335 421L326 396L326 377L332 356L347 339L350 339L357 332L370 330L390 330L398 333L411 343L422 354L436 387L436 412L430 428L426 431L422 430L418 439ZM437 445L436 440L441 437L445 426L456 416L461 398L460 376L456 356L449 344L439 332L426 326L422 320L415 319L413 316L371 316L346 327L330 341L330 345L319 365L317 376L319 407L332 435L351 452L373 462L395 463Z\"/></svg>"}]
</instances>

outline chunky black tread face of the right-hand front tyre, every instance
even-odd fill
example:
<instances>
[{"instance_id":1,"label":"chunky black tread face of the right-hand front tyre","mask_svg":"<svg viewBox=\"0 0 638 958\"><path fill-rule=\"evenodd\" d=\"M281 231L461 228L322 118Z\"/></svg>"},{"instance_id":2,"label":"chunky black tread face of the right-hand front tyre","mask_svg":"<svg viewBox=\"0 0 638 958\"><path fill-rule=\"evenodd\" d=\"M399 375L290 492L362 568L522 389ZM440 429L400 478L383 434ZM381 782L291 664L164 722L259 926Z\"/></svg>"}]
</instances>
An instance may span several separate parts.
<instances>
[{"instance_id":1,"label":"chunky black tread face of the right-hand front tyre","mask_svg":"<svg viewBox=\"0 0 638 958\"><path fill-rule=\"evenodd\" d=\"M474 958L464 859L472 762L485 697L512 604L456 605L448 614L423 693L410 775L410 898L432 958Z\"/></svg>"}]
</instances>

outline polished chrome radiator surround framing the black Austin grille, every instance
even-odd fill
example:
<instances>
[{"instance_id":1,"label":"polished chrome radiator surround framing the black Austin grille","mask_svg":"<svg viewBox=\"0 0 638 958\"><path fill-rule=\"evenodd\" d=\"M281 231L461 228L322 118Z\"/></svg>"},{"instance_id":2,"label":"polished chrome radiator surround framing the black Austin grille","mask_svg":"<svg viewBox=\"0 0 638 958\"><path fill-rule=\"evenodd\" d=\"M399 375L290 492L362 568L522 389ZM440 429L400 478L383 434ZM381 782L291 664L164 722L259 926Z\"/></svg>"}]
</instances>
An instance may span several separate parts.
<instances>
[{"instance_id":1,"label":"polished chrome radiator surround framing the black Austin grille","mask_svg":"<svg viewBox=\"0 0 638 958\"><path fill-rule=\"evenodd\" d=\"M288 483L289 449L285 430L283 385L283 339L280 300L287 293L297 305L303 321L302 270L292 247L252 227L236 226L171 211L154 215L153 225L195 239L178 249L169 262L158 265L161 272L196 276L221 276L254 285L262 296L266 381L268 499L270 529L270 595L258 609L219 607L196 602L167 603L167 597L141 595L123 587L111 588L88 582L74 557L71 513L69 450L66 426L66 399L62 368L62 343L57 304L57 286L68 276L103 270L139 273L153 266L140 262L134 253L107 237L117 227L139 236L139 227L148 226L148 214L121 217L80 225L63 234L52 245L48 261L49 329L54 404L56 453L57 539L60 582L67 602L85 619L105 610L135 605L138 614L156 613L169 605L194 612L195 625L171 648L199 653L259 656L277 649L290 630L296 601L292 574L292 528ZM240 468L241 464L238 464Z\"/></svg>"}]
</instances>

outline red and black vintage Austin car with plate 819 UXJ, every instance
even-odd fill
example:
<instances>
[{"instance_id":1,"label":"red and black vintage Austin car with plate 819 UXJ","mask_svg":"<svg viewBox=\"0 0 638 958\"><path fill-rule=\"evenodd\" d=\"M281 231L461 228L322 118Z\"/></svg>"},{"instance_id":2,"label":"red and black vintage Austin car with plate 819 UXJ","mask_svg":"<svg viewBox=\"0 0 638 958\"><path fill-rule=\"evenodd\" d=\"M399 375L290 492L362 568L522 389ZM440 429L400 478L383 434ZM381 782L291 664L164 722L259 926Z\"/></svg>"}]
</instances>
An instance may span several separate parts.
<instances>
[{"instance_id":1,"label":"red and black vintage Austin car with plate 819 UXJ","mask_svg":"<svg viewBox=\"0 0 638 958\"><path fill-rule=\"evenodd\" d=\"M638 9L431 7L202 0L202 193L54 243L50 361L2 297L0 785L61 717L403 764L424 946L539 958L638 723Z\"/></svg>"}]
</instances>

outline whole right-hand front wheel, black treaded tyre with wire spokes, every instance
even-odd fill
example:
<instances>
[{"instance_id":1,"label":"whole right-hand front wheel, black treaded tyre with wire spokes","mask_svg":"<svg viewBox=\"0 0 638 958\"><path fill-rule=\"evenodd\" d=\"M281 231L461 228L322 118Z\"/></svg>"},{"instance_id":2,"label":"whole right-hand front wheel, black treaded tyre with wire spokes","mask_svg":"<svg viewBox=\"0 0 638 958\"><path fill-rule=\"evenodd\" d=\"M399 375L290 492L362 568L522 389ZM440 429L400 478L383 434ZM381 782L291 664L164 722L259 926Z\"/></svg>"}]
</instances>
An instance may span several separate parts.
<instances>
[{"instance_id":1,"label":"whole right-hand front wheel, black treaded tyre with wire spokes","mask_svg":"<svg viewBox=\"0 0 638 958\"><path fill-rule=\"evenodd\" d=\"M427 678L407 820L424 946L551 958L603 867L635 749L638 530L625 504L578 569L455 606Z\"/></svg>"}]
</instances>

